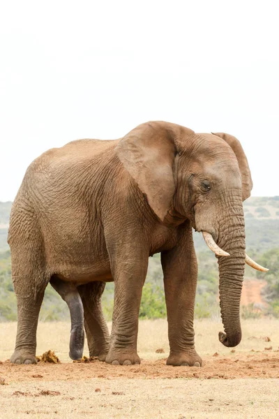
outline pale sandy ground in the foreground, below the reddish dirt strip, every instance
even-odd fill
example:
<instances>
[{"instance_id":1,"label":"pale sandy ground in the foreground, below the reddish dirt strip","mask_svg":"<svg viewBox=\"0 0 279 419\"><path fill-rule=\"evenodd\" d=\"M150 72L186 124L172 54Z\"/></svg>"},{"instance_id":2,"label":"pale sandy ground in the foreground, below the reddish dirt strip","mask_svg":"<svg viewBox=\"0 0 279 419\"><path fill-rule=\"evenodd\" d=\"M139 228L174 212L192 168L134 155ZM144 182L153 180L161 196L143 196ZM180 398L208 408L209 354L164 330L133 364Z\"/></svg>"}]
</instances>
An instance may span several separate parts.
<instances>
[{"instance_id":1,"label":"pale sandy ground in the foreground, below the reddish dirt strip","mask_svg":"<svg viewBox=\"0 0 279 419\"><path fill-rule=\"evenodd\" d=\"M31 381L10 383L0 392L1 418L277 419L277 381L91 378L42 382L39 387ZM96 385L100 391L94 391Z\"/></svg>"}]
</instances>

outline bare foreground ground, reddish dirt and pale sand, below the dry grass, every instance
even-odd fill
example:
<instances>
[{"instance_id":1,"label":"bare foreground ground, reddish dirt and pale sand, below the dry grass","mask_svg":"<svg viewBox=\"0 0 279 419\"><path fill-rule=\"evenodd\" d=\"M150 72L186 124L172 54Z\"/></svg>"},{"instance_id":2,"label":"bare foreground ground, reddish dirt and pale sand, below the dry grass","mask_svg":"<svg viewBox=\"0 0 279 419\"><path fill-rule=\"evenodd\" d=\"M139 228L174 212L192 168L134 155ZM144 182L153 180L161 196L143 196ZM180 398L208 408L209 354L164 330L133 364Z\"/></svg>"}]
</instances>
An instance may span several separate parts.
<instances>
[{"instance_id":1,"label":"bare foreground ground, reddish dirt and pale sand, below the dry grass","mask_svg":"<svg viewBox=\"0 0 279 419\"><path fill-rule=\"evenodd\" d=\"M254 340L253 340L254 341ZM257 338L255 342L263 339ZM157 355L158 357L160 354ZM5 419L234 419L279 417L274 391L279 351L203 356L204 365L172 367L165 359L141 365L90 362L3 362ZM28 415L28 416L27 416Z\"/></svg>"}]
</instances>

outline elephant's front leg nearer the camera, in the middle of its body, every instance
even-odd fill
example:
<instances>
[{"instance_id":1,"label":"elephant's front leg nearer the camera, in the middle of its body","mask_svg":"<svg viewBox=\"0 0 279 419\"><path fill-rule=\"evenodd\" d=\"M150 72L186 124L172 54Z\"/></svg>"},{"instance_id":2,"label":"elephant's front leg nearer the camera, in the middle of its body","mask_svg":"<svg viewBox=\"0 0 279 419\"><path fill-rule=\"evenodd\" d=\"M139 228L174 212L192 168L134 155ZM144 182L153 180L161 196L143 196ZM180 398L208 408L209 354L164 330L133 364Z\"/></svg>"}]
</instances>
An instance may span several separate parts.
<instances>
[{"instance_id":1,"label":"elephant's front leg nearer the camera, in the middle of its body","mask_svg":"<svg viewBox=\"0 0 279 419\"><path fill-rule=\"evenodd\" d=\"M112 365L140 364L137 355L137 330L142 297L142 286L146 277L148 255L142 260L138 255L114 267L114 312L110 348L106 362Z\"/></svg>"}]
</instances>

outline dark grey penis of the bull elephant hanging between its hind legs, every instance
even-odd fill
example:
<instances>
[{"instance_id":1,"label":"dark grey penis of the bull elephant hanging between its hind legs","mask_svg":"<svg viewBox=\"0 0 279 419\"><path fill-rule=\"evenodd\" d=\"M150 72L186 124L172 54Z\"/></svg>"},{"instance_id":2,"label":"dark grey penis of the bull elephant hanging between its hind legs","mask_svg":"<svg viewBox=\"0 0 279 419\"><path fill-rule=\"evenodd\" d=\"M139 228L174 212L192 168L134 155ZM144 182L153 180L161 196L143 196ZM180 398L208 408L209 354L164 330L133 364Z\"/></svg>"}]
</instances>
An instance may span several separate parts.
<instances>
[{"instance_id":1,"label":"dark grey penis of the bull elephant hanging between its hind legs","mask_svg":"<svg viewBox=\"0 0 279 419\"><path fill-rule=\"evenodd\" d=\"M50 284L66 301L70 310L70 352L72 360L80 360L84 349L84 310L80 293L75 284L52 277Z\"/></svg>"}]
</instances>

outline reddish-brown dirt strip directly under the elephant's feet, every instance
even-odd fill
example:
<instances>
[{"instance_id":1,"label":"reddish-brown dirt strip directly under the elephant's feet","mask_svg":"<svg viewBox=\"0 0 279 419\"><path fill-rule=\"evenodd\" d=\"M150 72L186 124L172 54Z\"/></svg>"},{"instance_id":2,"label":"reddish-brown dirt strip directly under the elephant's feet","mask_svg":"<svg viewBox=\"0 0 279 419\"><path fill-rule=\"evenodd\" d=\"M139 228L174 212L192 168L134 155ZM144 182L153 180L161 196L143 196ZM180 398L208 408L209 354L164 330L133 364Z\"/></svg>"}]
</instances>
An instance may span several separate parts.
<instances>
[{"instance_id":1,"label":"reddish-brown dirt strip directly under the elephant's feet","mask_svg":"<svg viewBox=\"0 0 279 419\"><path fill-rule=\"evenodd\" d=\"M234 353L224 357L216 355L204 357L202 368L172 367L165 365L165 359L143 360L141 365L118 366L91 360L88 363L59 363L38 365L0 365L1 377L5 383L20 381L75 381L90 378L279 378L279 352Z\"/></svg>"}]
</instances>

